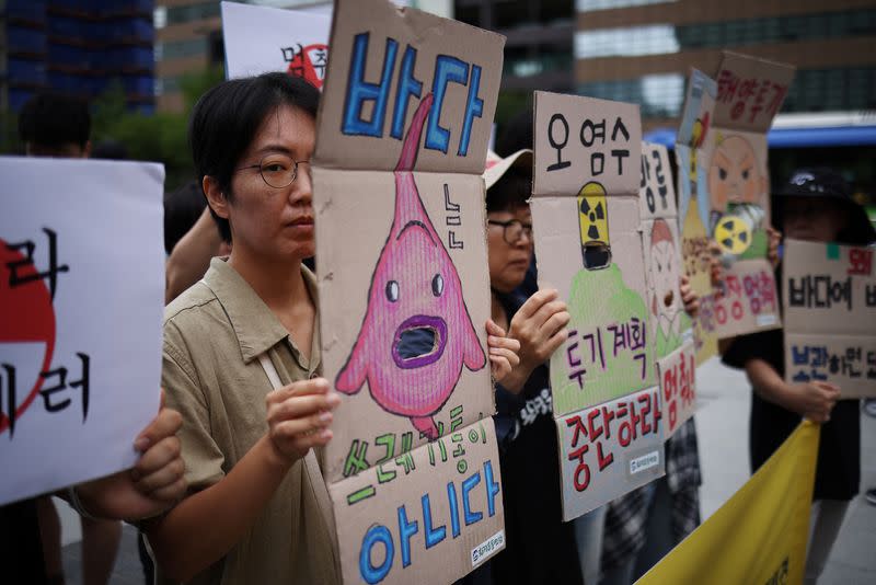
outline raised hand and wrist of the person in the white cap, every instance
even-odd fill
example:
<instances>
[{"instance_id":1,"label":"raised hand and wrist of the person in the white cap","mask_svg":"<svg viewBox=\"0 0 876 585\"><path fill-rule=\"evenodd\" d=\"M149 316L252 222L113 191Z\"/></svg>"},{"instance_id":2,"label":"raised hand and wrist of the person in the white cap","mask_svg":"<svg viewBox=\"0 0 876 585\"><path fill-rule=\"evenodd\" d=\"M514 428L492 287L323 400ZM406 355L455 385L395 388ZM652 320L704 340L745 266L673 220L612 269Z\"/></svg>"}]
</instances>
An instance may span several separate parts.
<instances>
[{"instance_id":1,"label":"raised hand and wrist of the person in the white cap","mask_svg":"<svg viewBox=\"0 0 876 585\"><path fill-rule=\"evenodd\" d=\"M572 317L558 296L554 289L539 290L511 319L508 336L520 342L520 363L502 381L509 392L520 392L532 370L568 339L566 325Z\"/></svg>"}]
</instances>

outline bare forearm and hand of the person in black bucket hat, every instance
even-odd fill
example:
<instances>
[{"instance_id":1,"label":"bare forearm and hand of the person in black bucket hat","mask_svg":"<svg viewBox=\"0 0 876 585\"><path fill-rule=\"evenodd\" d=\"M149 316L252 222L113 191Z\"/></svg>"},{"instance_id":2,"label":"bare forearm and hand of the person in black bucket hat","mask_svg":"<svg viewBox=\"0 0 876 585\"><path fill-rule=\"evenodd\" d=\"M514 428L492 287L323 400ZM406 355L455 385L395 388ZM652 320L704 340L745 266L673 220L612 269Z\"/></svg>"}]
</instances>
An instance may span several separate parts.
<instances>
[{"instance_id":1,"label":"bare forearm and hand of the person in black bucket hat","mask_svg":"<svg viewBox=\"0 0 876 585\"><path fill-rule=\"evenodd\" d=\"M840 389L832 383L787 383L768 362L757 357L746 362L746 375L762 399L815 423L829 421L840 398Z\"/></svg>"}]
</instances>

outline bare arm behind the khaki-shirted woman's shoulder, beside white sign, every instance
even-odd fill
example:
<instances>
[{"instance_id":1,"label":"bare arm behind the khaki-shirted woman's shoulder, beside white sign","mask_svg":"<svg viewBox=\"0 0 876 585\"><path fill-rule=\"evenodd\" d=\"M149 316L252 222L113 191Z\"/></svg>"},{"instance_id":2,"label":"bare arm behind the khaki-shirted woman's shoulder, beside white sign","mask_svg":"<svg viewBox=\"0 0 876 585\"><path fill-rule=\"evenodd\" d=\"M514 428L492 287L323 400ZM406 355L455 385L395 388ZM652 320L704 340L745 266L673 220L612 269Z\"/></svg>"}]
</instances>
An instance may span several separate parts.
<instances>
[{"instance_id":1,"label":"bare arm behind the khaki-shirted woman's shoulder, beside white sign","mask_svg":"<svg viewBox=\"0 0 876 585\"><path fill-rule=\"evenodd\" d=\"M165 305L207 273L210 259L219 253L221 245L219 228L210 217L210 208L205 207L192 229L171 250L165 266Z\"/></svg>"}]
</instances>

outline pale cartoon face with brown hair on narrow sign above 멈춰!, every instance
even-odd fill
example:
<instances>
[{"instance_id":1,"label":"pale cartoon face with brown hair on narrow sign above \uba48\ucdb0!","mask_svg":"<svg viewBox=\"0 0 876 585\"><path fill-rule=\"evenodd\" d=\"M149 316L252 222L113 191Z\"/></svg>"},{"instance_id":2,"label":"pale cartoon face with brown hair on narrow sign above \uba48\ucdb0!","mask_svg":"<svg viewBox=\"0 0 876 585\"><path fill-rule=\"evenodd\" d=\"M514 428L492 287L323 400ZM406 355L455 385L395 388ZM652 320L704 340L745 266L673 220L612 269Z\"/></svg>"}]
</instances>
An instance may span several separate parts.
<instances>
[{"instance_id":1,"label":"pale cartoon face with brown hair on narrow sign above \uba48\ucdb0!","mask_svg":"<svg viewBox=\"0 0 876 585\"><path fill-rule=\"evenodd\" d=\"M665 333L681 310L679 266L676 241L665 219L656 219L650 232L650 262L648 277L654 287L652 313L658 318Z\"/></svg>"}]
</instances>

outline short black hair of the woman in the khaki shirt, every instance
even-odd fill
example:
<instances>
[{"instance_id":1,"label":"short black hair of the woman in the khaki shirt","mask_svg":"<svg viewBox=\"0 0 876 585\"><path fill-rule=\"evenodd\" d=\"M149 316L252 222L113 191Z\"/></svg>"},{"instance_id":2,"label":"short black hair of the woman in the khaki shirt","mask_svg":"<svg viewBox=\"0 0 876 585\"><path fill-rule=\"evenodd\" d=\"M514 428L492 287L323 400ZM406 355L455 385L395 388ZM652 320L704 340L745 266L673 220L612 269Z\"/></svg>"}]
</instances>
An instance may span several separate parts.
<instances>
[{"instance_id":1,"label":"short black hair of the woman in the khaki shirt","mask_svg":"<svg viewBox=\"0 0 876 585\"><path fill-rule=\"evenodd\" d=\"M208 90L192 111L188 141L195 172L216 180L228 199L231 179L265 118L277 107L298 107L313 118L320 103L316 88L300 77L272 72L223 81ZM219 233L231 242L231 226L210 208Z\"/></svg>"}]
</instances>

